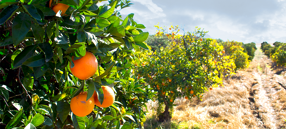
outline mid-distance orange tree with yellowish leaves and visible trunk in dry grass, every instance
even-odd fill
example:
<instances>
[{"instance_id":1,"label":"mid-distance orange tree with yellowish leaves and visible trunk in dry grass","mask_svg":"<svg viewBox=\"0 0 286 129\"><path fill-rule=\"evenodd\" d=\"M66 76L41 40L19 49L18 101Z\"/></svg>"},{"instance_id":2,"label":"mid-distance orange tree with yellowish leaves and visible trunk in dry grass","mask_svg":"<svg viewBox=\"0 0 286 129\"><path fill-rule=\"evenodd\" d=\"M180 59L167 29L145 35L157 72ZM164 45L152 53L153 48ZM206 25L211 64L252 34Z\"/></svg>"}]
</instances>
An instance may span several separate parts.
<instances>
[{"instance_id":1,"label":"mid-distance orange tree with yellowish leaves and visible trunk in dry grass","mask_svg":"<svg viewBox=\"0 0 286 129\"><path fill-rule=\"evenodd\" d=\"M208 88L221 85L222 72L234 74L235 65L229 56L222 56L223 47L216 40L204 38L206 32L200 28L179 35L177 26L167 30L156 27L156 36L165 35L169 42L154 52L138 52L140 61L135 63L139 64L138 78L146 78L146 83L158 92L158 117L164 121L171 118L177 97L202 99Z\"/></svg>"}]
</instances>

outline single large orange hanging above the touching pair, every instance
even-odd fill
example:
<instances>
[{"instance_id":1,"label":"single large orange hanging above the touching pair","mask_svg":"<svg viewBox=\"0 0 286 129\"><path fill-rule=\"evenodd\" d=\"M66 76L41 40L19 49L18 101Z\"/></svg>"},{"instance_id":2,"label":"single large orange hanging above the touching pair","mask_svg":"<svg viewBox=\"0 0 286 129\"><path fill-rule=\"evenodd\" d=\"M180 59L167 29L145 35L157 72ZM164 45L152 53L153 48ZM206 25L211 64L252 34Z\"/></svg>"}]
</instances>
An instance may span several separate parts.
<instances>
[{"instance_id":1,"label":"single large orange hanging above the touching pair","mask_svg":"<svg viewBox=\"0 0 286 129\"><path fill-rule=\"evenodd\" d=\"M78 79L86 80L96 73L98 63L91 52L86 52L85 56L77 60L74 60L74 56L72 56L72 62L75 66L71 68L72 63L70 63L70 69Z\"/></svg>"}]
</instances>

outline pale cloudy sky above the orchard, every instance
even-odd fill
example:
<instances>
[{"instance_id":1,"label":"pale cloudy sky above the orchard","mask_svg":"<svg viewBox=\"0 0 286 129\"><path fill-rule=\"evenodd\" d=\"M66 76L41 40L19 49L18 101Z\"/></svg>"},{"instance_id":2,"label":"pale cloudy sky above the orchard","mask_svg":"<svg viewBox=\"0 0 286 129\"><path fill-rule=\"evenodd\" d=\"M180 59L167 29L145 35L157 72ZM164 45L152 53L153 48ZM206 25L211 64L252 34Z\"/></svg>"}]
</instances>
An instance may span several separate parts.
<instances>
[{"instance_id":1,"label":"pale cloudy sky above the orchard","mask_svg":"<svg viewBox=\"0 0 286 129\"><path fill-rule=\"evenodd\" d=\"M131 0L120 10L155 34L154 25L178 25L185 32L195 27L208 31L206 38L243 43L286 42L285 0ZM102 3L100 3L102 4ZM183 31L180 31L182 34Z\"/></svg>"}]
</instances>

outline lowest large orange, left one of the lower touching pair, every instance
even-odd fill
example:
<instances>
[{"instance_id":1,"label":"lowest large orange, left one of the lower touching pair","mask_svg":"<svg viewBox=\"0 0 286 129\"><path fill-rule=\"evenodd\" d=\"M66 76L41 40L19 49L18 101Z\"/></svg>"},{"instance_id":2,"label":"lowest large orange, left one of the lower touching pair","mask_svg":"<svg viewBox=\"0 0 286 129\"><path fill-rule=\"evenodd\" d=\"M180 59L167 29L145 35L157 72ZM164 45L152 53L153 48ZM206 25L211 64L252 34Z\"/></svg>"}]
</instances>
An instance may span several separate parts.
<instances>
[{"instance_id":1,"label":"lowest large orange, left one of the lower touching pair","mask_svg":"<svg viewBox=\"0 0 286 129\"><path fill-rule=\"evenodd\" d=\"M86 101L87 92L81 92L71 100L72 113L78 117L84 117L90 114L94 108L94 98L91 97Z\"/></svg>"}]
</instances>

